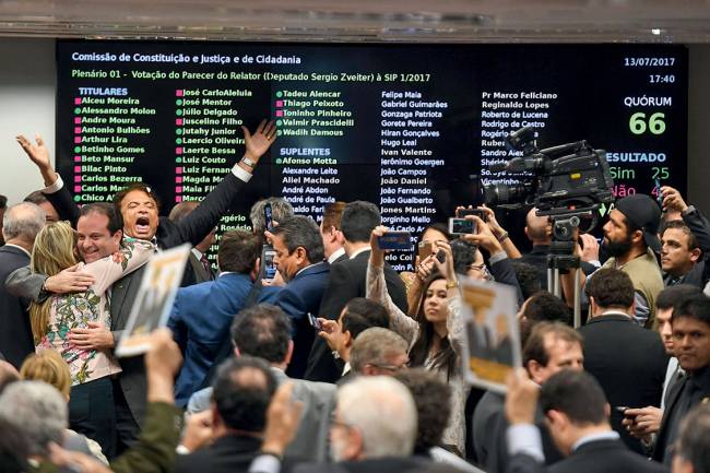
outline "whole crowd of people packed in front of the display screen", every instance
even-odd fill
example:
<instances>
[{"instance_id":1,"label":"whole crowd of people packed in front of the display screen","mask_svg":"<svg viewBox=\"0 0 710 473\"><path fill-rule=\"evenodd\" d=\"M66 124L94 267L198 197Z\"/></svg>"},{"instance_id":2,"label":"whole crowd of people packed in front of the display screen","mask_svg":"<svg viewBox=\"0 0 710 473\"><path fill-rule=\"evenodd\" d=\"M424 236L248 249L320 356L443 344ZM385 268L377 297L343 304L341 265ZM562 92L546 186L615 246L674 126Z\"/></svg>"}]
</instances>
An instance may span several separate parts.
<instances>
[{"instance_id":1,"label":"whole crowd of people packed in front of the display screen","mask_svg":"<svg viewBox=\"0 0 710 473\"><path fill-rule=\"evenodd\" d=\"M400 274L376 204L316 223L264 197L215 272L215 227L276 130L244 133L169 216L141 182L78 208L42 139L17 137L46 187L0 199L0 472L710 472L710 223L676 189L619 199L601 245L579 235L559 296L535 209L522 232L486 206L473 234L433 224ZM167 328L116 357L145 263L186 243ZM506 394L466 381L464 277L516 295Z\"/></svg>"}]
</instances>

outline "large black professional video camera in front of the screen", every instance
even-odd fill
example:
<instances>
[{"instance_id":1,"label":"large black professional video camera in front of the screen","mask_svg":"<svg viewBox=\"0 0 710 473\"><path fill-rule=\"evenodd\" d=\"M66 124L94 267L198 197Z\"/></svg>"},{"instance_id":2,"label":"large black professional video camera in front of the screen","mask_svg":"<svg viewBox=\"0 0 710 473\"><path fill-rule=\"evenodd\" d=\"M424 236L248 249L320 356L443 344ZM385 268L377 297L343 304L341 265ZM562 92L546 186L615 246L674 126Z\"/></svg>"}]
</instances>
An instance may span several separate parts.
<instances>
[{"instance_id":1,"label":"large black professional video camera in front of the screen","mask_svg":"<svg viewBox=\"0 0 710 473\"><path fill-rule=\"evenodd\" d=\"M595 217L602 203L614 202L614 180L605 151L594 150L584 140L539 150L535 131L529 127L508 135L506 143L522 156L493 165L490 170L516 174L520 182L484 186L488 206L534 205L537 215Z\"/></svg>"}]
</instances>

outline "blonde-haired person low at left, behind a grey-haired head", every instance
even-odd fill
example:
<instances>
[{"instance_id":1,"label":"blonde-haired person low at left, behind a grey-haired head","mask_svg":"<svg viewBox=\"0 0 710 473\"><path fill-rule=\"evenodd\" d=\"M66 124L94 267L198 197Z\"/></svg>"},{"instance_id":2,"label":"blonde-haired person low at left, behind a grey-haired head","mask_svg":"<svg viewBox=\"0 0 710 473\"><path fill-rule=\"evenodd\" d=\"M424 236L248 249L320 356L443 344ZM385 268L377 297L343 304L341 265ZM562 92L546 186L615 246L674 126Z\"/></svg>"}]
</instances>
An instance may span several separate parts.
<instances>
[{"instance_id":1,"label":"blonde-haired person low at left, behind a grey-haired head","mask_svg":"<svg viewBox=\"0 0 710 473\"><path fill-rule=\"evenodd\" d=\"M69 401L71 389L69 365L54 350L45 350L42 353L34 353L27 356L20 367L20 377L27 381L44 381L47 385L51 385ZM67 450L91 454L102 463L108 464L108 460L106 460L106 457L102 452L102 447L95 440L69 428L64 435L62 447Z\"/></svg>"}]
</instances>

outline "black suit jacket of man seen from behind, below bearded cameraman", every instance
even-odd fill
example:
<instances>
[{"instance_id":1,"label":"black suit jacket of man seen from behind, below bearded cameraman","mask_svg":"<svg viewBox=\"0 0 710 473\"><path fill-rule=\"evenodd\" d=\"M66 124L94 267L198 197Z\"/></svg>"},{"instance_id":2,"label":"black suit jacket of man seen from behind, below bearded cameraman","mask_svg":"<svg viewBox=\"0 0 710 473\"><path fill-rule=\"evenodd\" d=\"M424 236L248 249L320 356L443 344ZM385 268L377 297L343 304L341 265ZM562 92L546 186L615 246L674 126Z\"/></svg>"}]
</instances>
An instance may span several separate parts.
<instances>
[{"instance_id":1,"label":"black suit jacket of man seen from behind, below bearded cameraman","mask_svg":"<svg viewBox=\"0 0 710 473\"><path fill-rule=\"evenodd\" d=\"M594 317L579 332L584 336L584 369L596 378L612 406L612 428L627 447L644 453L614 407L661 405L668 357L659 334L617 314Z\"/></svg>"}]
</instances>

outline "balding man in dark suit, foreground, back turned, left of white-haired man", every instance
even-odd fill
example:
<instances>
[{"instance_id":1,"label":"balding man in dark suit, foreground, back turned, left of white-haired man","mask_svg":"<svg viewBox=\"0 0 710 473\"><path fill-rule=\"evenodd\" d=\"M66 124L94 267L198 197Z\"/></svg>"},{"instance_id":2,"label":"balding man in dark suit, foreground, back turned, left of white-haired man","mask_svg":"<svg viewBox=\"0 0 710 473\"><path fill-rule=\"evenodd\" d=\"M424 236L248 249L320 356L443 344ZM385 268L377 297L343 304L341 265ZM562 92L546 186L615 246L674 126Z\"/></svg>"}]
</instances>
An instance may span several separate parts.
<instances>
[{"instance_id":1,"label":"balding man in dark suit, foreground, back turned, left of white-haired man","mask_svg":"<svg viewBox=\"0 0 710 473\"><path fill-rule=\"evenodd\" d=\"M175 473L246 473L261 449L267 406L276 390L269 365L249 356L228 359L213 388L213 442L178 457Z\"/></svg>"}]
</instances>

